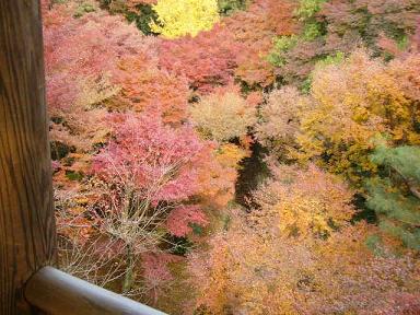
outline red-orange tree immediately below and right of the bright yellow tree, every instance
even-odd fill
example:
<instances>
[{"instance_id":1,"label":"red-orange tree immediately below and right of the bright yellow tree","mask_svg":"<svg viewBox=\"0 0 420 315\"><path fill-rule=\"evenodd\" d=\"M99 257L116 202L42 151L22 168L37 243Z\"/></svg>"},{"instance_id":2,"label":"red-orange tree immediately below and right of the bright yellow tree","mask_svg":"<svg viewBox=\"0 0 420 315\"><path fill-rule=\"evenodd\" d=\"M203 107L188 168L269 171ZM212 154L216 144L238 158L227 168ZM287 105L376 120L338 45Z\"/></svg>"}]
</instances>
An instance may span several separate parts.
<instances>
[{"instance_id":1,"label":"red-orange tree immediately below and right of the bright yellow tree","mask_svg":"<svg viewBox=\"0 0 420 315\"><path fill-rule=\"evenodd\" d=\"M234 75L249 86L268 86L275 75L265 57L276 35L293 33L292 8L288 1L259 0L194 38L164 40L160 65L203 93L232 83Z\"/></svg>"}]
</instances>

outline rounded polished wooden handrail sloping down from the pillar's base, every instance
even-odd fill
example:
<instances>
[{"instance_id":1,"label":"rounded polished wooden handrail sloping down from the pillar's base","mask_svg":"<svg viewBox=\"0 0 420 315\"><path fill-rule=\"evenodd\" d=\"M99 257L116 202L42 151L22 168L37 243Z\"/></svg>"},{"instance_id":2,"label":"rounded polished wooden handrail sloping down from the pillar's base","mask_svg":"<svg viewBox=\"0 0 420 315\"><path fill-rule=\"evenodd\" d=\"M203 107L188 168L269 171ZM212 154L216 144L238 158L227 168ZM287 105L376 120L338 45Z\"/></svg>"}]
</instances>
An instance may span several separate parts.
<instances>
[{"instance_id":1,"label":"rounded polished wooden handrail sloping down from the pillar's base","mask_svg":"<svg viewBox=\"0 0 420 315\"><path fill-rule=\"evenodd\" d=\"M44 267L25 287L27 302L50 315L163 315L160 311L72 277Z\"/></svg>"}]
</instances>

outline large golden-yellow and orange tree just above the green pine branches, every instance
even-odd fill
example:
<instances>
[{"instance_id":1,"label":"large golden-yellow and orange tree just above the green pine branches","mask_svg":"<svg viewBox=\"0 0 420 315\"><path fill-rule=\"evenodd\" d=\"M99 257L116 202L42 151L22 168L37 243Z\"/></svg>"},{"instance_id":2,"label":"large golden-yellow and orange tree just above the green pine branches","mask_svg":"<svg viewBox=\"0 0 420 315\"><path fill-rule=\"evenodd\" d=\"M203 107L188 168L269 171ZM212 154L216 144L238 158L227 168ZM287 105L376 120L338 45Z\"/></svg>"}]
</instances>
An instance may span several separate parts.
<instances>
[{"instance_id":1,"label":"large golden-yellow and orange tree just above the green pine branches","mask_svg":"<svg viewBox=\"0 0 420 315\"><path fill-rule=\"evenodd\" d=\"M415 91L412 80L399 78L418 65L415 61L384 65L359 49L342 63L317 67L312 75L313 105L300 113L301 150L292 155L301 161L318 158L329 171L359 183L366 172L375 172L368 156L377 135L389 135L396 144L418 144L418 101L408 93Z\"/></svg>"}]
</instances>

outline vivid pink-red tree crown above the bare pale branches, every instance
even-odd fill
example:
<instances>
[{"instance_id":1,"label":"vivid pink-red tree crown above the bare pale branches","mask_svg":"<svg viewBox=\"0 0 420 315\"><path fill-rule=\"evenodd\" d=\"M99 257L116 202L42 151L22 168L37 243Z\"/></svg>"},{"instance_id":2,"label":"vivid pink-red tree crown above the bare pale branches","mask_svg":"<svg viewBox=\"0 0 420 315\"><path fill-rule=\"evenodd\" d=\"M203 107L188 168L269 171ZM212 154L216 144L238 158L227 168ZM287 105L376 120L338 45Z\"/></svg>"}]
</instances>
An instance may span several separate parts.
<instances>
[{"instance_id":1,"label":"vivid pink-red tree crown above the bare pale branches","mask_svg":"<svg viewBox=\"0 0 420 315\"><path fill-rule=\"evenodd\" d=\"M93 172L108 183L153 192L153 201L180 201L197 191L203 149L189 127L173 129L151 115L115 115L115 139L94 158Z\"/></svg>"}]
</instances>

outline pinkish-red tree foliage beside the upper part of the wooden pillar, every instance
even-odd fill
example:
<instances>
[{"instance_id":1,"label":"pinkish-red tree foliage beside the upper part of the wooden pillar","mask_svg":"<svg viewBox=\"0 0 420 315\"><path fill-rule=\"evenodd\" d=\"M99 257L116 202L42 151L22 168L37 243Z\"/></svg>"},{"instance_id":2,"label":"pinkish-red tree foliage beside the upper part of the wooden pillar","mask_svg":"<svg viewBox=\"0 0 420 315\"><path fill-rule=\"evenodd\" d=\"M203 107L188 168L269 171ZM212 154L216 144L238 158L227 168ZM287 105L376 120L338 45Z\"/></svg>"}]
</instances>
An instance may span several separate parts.
<instances>
[{"instance_id":1,"label":"pinkish-red tree foliage beside the upper part of the wooden pillar","mask_svg":"<svg viewBox=\"0 0 420 315\"><path fill-rule=\"evenodd\" d=\"M147 38L121 16L92 12L73 19L74 4L54 5L44 13L47 101L50 109L69 108L84 78L97 80L117 70L122 57L156 58L154 38Z\"/></svg>"}]
</instances>

